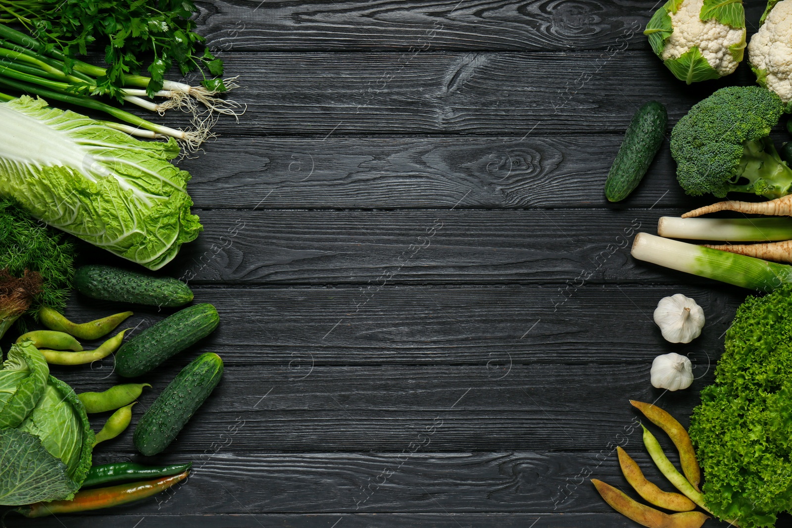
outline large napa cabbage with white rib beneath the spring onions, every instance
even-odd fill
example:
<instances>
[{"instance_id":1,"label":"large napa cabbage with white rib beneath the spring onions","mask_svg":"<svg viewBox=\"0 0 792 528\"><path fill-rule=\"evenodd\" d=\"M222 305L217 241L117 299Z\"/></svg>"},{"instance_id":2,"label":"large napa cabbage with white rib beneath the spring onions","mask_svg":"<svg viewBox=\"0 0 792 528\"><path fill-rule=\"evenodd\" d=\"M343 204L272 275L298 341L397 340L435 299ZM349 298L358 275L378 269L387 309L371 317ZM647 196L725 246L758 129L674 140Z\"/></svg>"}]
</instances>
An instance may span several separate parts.
<instances>
[{"instance_id":1,"label":"large napa cabbage with white rib beneath the spring onions","mask_svg":"<svg viewBox=\"0 0 792 528\"><path fill-rule=\"evenodd\" d=\"M23 96L0 103L0 196L36 218L149 269L203 227L176 141L141 141Z\"/></svg>"}]
</instances>

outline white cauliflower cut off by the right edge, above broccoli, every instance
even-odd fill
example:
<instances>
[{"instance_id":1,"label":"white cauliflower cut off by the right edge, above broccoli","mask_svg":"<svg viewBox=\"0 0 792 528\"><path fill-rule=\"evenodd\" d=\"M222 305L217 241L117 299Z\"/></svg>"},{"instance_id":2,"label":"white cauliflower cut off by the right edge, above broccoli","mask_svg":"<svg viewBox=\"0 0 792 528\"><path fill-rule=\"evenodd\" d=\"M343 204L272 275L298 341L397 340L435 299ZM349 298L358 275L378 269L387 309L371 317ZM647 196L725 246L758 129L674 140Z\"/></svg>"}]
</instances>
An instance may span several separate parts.
<instances>
[{"instance_id":1,"label":"white cauliflower cut off by the right edge, above broccoli","mask_svg":"<svg viewBox=\"0 0 792 528\"><path fill-rule=\"evenodd\" d=\"M755 70L762 70L757 71L760 83L778 93L785 103L792 101L792 0L775 4L751 37L748 60Z\"/></svg>"}]
</instances>

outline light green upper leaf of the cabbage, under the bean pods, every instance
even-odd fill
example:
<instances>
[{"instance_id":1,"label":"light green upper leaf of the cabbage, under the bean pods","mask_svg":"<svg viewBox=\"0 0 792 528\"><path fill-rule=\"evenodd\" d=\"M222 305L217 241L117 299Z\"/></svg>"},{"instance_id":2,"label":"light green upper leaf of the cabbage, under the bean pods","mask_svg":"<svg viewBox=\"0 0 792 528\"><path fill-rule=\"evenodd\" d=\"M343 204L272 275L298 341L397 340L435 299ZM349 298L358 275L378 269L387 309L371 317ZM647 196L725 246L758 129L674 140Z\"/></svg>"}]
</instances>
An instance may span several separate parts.
<instances>
[{"instance_id":1,"label":"light green upper leaf of the cabbage, under the bean pods","mask_svg":"<svg viewBox=\"0 0 792 528\"><path fill-rule=\"evenodd\" d=\"M44 393L49 367L30 341L13 344L0 370L0 427L17 427Z\"/></svg>"}]
</instances>

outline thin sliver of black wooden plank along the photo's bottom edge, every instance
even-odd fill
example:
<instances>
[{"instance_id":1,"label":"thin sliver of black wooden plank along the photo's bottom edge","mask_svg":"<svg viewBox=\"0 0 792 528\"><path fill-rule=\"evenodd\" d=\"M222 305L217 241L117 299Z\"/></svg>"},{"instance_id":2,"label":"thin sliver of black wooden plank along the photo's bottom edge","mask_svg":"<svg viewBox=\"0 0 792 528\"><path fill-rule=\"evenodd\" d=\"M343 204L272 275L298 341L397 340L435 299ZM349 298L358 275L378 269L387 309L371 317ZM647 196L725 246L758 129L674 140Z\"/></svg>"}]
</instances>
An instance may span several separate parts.
<instances>
[{"instance_id":1,"label":"thin sliver of black wooden plank along the photo's bottom edge","mask_svg":"<svg viewBox=\"0 0 792 528\"><path fill-rule=\"evenodd\" d=\"M114 508L113 511L134 511L135 506ZM21 520L16 515L9 515L8 526L30 526L29 521ZM97 512L96 515L70 515L60 519L69 522L69 528L94 528L97 524L111 524L134 528L135 522L142 517L129 513L127 515L112 515ZM466 513L466 514L250 514L242 507L240 513L234 515L197 515L188 513L179 515L147 515L144 518L150 528L173 528L174 522L183 523L183 526L206 526L206 528L251 528L251 526L266 526L267 528L370 528L371 526L411 526L415 528L634 528L636 525L623 515L614 511L597 513L546 513L543 515L528 513ZM116 522L124 522L117 525ZM460 524L464 523L464 524ZM36 526L42 528L63 528L58 519L39 519ZM712 520L704 523L703 528L725 528L726 523ZM779 525L780 526L780 525Z\"/></svg>"}]
</instances>

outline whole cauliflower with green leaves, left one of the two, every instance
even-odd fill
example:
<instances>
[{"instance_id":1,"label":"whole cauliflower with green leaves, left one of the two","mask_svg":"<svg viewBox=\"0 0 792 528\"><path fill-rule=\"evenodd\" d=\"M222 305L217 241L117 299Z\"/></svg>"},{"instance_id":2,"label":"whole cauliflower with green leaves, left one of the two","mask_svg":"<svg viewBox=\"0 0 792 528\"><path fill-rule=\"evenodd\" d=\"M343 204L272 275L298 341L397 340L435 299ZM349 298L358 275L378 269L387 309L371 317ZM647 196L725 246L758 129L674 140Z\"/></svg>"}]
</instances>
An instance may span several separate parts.
<instances>
[{"instance_id":1,"label":"whole cauliflower with green leaves, left one of the two","mask_svg":"<svg viewBox=\"0 0 792 528\"><path fill-rule=\"evenodd\" d=\"M676 78L687 84L721 78L743 58L742 0L668 0L644 34Z\"/></svg>"}]
</instances>

